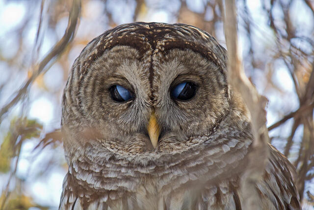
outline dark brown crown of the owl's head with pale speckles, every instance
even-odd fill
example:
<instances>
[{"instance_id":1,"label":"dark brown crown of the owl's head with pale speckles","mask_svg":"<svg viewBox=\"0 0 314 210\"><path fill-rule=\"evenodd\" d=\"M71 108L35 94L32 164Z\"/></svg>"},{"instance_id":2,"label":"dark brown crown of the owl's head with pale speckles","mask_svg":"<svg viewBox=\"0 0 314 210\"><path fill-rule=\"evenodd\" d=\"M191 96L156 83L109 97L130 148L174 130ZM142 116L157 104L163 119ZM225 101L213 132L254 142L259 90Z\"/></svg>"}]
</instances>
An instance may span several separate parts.
<instances>
[{"instance_id":1,"label":"dark brown crown of the owl's head with pale speckles","mask_svg":"<svg viewBox=\"0 0 314 210\"><path fill-rule=\"evenodd\" d=\"M206 31L186 24L136 22L107 30L93 39L79 56L79 60L86 60L81 63L80 73L84 74L91 62L118 45L137 49L143 58L158 52L166 54L174 48L190 49L226 70L225 49Z\"/></svg>"}]
</instances>

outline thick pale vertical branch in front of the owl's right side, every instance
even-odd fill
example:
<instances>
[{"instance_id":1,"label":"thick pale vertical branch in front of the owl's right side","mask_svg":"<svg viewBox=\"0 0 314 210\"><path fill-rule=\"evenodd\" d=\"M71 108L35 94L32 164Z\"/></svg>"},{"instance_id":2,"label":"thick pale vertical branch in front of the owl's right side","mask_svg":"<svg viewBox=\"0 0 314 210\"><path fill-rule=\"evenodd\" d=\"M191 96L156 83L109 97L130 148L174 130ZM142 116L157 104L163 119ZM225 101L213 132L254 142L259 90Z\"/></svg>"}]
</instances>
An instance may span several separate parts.
<instances>
[{"instance_id":1,"label":"thick pale vertical branch in front of the owl's right side","mask_svg":"<svg viewBox=\"0 0 314 210\"><path fill-rule=\"evenodd\" d=\"M243 209L261 209L256 183L261 180L268 157L267 142L269 140L266 128L264 107L266 98L259 95L254 86L244 74L237 43L235 1L225 0L224 29L228 48L228 78L233 89L239 92L248 107L252 120L254 141L248 154L249 163L242 176ZM232 79L230 79L232 78Z\"/></svg>"}]
</instances>

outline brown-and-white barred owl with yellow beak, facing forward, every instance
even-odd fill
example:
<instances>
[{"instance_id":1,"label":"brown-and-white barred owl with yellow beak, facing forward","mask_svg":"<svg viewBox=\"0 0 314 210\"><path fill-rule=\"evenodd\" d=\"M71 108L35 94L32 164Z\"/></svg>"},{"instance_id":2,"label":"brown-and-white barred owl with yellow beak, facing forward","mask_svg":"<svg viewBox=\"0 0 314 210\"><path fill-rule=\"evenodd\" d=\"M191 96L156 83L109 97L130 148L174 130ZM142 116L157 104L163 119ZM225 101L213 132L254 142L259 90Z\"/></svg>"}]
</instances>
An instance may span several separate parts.
<instances>
[{"instance_id":1,"label":"brown-and-white barred owl with yellow beak, facing forward","mask_svg":"<svg viewBox=\"0 0 314 210\"><path fill-rule=\"evenodd\" d=\"M61 210L240 210L253 136L226 50L185 24L131 23L93 39L62 99ZM294 169L269 145L265 210L301 209Z\"/></svg>"}]
</instances>

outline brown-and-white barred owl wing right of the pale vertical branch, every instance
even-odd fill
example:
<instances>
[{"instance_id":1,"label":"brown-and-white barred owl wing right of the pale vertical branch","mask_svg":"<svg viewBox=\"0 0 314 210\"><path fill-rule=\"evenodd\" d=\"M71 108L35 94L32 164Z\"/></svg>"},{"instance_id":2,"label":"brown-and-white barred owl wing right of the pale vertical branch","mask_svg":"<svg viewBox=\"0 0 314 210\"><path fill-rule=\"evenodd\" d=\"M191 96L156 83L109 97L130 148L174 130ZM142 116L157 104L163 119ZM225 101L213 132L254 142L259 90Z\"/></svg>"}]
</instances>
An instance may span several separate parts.
<instances>
[{"instance_id":1,"label":"brown-and-white barred owl wing right of the pale vertical branch","mask_svg":"<svg viewBox=\"0 0 314 210\"><path fill-rule=\"evenodd\" d=\"M295 170L288 159L269 144L270 155L263 180L257 185L262 207L267 210L299 210Z\"/></svg>"}]
</instances>

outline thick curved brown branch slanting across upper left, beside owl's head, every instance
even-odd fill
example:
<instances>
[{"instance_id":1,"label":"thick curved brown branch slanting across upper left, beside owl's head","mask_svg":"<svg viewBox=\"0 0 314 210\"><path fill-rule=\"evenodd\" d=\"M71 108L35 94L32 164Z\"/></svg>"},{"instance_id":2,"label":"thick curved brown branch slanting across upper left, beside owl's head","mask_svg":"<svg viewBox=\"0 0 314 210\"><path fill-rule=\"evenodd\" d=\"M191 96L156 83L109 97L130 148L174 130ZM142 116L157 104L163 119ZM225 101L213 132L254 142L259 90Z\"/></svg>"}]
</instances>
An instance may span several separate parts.
<instances>
[{"instance_id":1,"label":"thick curved brown branch slanting across upper left, beside owl's head","mask_svg":"<svg viewBox=\"0 0 314 210\"><path fill-rule=\"evenodd\" d=\"M57 58L72 41L75 33L75 29L78 23L78 17L80 14L80 0L73 0L72 9L70 12L68 27L63 35L63 37L54 45L50 53L36 65L33 74L30 78L25 82L25 84L17 91L15 97L7 102L2 109L0 110L0 121L5 113L7 113L17 102L20 101L21 98L25 96L27 93L28 87L34 82L34 80L43 73L45 66L55 58Z\"/></svg>"}]
</instances>

